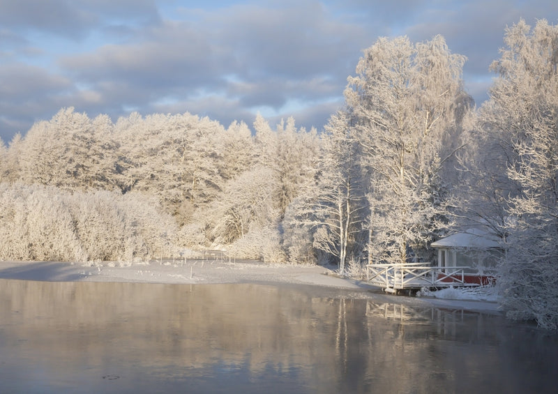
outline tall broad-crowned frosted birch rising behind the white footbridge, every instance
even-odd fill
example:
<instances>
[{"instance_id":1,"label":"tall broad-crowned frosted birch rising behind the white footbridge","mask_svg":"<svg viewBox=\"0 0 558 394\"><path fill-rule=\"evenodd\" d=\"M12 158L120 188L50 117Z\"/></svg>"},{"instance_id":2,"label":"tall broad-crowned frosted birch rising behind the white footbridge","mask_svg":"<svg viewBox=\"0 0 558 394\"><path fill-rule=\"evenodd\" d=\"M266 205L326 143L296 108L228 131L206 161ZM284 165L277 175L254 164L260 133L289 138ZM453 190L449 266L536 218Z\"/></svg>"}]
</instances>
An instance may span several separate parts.
<instances>
[{"instance_id":1,"label":"tall broad-crowned frosted birch rising behind the white footbridge","mask_svg":"<svg viewBox=\"0 0 558 394\"><path fill-rule=\"evenodd\" d=\"M375 262L405 262L444 227L439 173L448 157L443 142L458 128L467 99L464 62L442 36L416 45L380 38L348 79L345 98L369 179Z\"/></svg>"}]
</instances>

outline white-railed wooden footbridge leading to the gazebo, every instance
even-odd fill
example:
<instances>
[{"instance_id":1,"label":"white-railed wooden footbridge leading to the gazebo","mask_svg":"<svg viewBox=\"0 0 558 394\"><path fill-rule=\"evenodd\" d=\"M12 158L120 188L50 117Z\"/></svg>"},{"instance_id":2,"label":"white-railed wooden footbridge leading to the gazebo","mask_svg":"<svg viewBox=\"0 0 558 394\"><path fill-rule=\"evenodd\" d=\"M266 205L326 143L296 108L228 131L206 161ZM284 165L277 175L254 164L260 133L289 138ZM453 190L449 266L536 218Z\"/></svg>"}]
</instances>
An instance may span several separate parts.
<instances>
[{"instance_id":1,"label":"white-railed wooden footbridge leading to the gazebo","mask_svg":"<svg viewBox=\"0 0 558 394\"><path fill-rule=\"evenodd\" d=\"M390 293L398 290L418 290L422 287L469 287L486 285L491 275L472 274L471 267L439 267L430 263L368 264L366 279L370 285Z\"/></svg>"}]
</instances>

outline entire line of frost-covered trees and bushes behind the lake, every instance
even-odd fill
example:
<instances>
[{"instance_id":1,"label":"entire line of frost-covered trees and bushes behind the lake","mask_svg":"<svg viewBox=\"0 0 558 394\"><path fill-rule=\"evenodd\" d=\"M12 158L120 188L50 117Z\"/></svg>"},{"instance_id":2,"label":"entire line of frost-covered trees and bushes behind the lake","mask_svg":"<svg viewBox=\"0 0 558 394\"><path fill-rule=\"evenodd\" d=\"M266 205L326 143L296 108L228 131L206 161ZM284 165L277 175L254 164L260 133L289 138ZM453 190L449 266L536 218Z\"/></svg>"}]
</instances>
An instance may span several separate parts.
<instances>
[{"instance_id":1,"label":"entire line of frost-covered trees and bushes behind the lake","mask_svg":"<svg viewBox=\"0 0 558 394\"><path fill-rule=\"evenodd\" d=\"M431 262L497 234L508 316L558 324L558 27L506 29L489 100L442 36L380 38L324 130L73 108L0 143L0 259L133 260L225 248L268 262Z\"/></svg>"}]
</instances>

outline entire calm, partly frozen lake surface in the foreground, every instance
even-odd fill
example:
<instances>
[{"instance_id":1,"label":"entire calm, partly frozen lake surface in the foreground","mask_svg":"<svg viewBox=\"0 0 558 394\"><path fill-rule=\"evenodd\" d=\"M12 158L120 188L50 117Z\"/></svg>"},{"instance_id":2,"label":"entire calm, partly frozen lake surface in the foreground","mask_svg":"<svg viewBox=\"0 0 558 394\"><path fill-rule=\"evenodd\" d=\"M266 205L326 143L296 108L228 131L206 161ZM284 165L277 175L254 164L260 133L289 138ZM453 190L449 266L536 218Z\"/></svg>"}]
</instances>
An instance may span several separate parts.
<instances>
[{"instance_id":1,"label":"entire calm, partly frozen lake surface in the foreground","mask_svg":"<svg viewBox=\"0 0 558 394\"><path fill-rule=\"evenodd\" d=\"M0 391L555 393L557 335L354 295L0 280Z\"/></svg>"}]
</instances>

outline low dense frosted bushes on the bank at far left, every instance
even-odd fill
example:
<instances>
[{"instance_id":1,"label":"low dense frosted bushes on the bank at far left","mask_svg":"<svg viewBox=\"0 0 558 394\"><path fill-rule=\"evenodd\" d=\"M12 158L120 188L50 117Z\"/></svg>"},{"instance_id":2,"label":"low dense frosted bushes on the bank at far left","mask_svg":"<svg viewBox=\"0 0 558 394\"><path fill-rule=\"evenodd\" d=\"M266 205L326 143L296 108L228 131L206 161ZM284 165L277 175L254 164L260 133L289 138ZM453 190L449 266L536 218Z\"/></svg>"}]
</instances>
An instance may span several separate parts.
<instances>
[{"instance_id":1,"label":"low dense frosted bushes on the bank at far left","mask_svg":"<svg viewBox=\"0 0 558 394\"><path fill-rule=\"evenodd\" d=\"M0 183L0 259L149 260L172 255L175 233L145 195Z\"/></svg>"}]
</instances>

